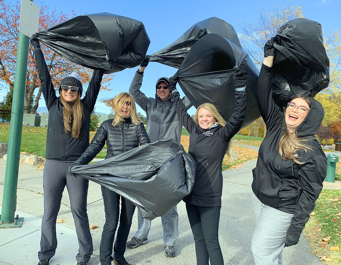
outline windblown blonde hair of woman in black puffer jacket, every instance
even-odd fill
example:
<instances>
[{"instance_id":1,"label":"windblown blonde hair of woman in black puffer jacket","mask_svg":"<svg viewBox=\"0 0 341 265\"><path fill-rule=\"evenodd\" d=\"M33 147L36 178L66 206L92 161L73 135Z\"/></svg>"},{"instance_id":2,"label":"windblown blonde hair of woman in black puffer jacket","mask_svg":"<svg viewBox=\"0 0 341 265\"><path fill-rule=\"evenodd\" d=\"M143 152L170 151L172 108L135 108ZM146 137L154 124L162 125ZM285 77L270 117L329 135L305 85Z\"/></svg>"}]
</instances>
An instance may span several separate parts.
<instances>
[{"instance_id":1,"label":"windblown blonde hair of woman in black puffer jacket","mask_svg":"<svg viewBox=\"0 0 341 265\"><path fill-rule=\"evenodd\" d=\"M122 92L116 95L112 99L102 100L102 102L105 103L105 105L107 105L108 107L111 107L113 111L115 112L113 123L112 123L113 126L117 126L123 122L124 117L121 113L121 109L123 105L125 104L125 102L129 100L131 101L131 109L127 115L127 118L130 117L131 122L133 124L139 124L142 121L137 115L136 105L135 105L135 101L134 101L132 94L127 93L127 92Z\"/></svg>"}]
</instances>

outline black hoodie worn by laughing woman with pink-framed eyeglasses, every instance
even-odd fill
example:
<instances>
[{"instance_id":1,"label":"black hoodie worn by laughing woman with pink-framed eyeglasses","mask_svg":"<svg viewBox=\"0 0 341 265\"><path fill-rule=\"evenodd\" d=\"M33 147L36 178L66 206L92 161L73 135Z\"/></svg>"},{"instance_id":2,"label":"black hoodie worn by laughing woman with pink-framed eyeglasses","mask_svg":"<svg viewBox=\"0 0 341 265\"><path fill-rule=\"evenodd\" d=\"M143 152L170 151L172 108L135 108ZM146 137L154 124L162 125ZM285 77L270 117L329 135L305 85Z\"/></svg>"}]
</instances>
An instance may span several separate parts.
<instances>
[{"instance_id":1,"label":"black hoodie worn by laughing woman with pink-framed eyeglasses","mask_svg":"<svg viewBox=\"0 0 341 265\"><path fill-rule=\"evenodd\" d=\"M284 161L279 154L279 141L285 133L285 116L272 99L272 68L262 65L257 84L258 108L265 121L267 133L253 169L252 190L264 204L294 214L287 233L299 238L327 173L327 158L315 134L324 117L320 102L311 98L310 111L297 128L297 136L309 139L304 144L312 148L296 155L303 164L291 159Z\"/></svg>"}]
</instances>

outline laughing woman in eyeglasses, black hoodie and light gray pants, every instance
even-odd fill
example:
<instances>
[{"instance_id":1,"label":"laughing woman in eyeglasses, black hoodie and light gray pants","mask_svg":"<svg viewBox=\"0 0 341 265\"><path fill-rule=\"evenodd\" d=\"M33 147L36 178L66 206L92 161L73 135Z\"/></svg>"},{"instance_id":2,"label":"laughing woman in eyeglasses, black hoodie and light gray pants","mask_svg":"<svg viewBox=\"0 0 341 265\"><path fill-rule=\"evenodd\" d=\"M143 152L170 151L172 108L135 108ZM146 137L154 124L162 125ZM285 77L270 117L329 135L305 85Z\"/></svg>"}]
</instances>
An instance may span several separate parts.
<instances>
[{"instance_id":1,"label":"laughing woman in eyeglasses, black hoodie and light gray pants","mask_svg":"<svg viewBox=\"0 0 341 265\"><path fill-rule=\"evenodd\" d=\"M322 105L297 95L283 115L272 99L273 41L264 46L257 84L258 108L267 133L252 171L255 231L251 249L256 265L282 264L283 248L298 243L322 190L327 167L314 136L324 117Z\"/></svg>"}]
</instances>

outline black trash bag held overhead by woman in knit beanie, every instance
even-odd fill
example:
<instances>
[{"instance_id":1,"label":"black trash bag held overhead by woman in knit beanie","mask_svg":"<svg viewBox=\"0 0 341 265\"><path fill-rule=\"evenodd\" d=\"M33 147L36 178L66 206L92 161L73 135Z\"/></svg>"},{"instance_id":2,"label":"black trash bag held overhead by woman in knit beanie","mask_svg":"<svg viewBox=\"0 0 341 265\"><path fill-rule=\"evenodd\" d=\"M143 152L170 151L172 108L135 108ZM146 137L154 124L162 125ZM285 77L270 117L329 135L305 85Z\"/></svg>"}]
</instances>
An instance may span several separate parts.
<instances>
[{"instance_id":1,"label":"black trash bag held overhead by woman in knit beanie","mask_svg":"<svg viewBox=\"0 0 341 265\"><path fill-rule=\"evenodd\" d=\"M150 43L142 22L110 13L77 16L36 34L60 56L106 74L139 65Z\"/></svg>"}]
</instances>

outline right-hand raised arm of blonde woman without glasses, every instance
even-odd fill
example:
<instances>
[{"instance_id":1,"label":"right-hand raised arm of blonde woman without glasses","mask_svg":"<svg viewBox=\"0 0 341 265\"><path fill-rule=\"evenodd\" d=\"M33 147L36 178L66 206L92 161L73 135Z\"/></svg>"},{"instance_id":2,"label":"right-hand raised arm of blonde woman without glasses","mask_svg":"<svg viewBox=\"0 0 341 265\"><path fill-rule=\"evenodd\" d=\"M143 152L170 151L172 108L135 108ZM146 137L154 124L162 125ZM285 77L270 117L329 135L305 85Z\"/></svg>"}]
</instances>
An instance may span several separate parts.
<instances>
[{"instance_id":1,"label":"right-hand raised arm of blonde woman without glasses","mask_svg":"<svg viewBox=\"0 0 341 265\"><path fill-rule=\"evenodd\" d=\"M233 72L234 87L235 87L235 108L234 113L228 119L225 126L223 127L222 139L225 142L230 139L240 130L241 125L245 119L246 110L246 77L247 72L243 69L235 68Z\"/></svg>"}]
</instances>

